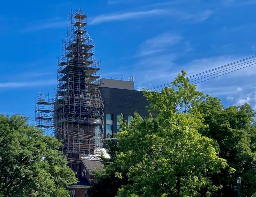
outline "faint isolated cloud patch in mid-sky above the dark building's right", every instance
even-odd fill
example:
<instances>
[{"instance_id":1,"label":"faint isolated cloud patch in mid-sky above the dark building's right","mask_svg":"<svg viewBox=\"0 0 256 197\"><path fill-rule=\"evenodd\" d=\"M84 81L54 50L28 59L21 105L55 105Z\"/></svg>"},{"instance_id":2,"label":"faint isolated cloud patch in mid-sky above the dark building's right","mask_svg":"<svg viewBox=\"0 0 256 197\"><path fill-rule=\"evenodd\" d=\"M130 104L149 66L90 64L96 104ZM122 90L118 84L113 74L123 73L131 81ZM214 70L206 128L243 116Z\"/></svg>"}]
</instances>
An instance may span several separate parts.
<instances>
[{"instance_id":1,"label":"faint isolated cloud patch in mid-sky above the dark building's right","mask_svg":"<svg viewBox=\"0 0 256 197\"><path fill-rule=\"evenodd\" d=\"M178 34L164 33L148 39L140 44L138 56L151 55L163 51L165 48L176 45L182 40Z\"/></svg>"}]
</instances>

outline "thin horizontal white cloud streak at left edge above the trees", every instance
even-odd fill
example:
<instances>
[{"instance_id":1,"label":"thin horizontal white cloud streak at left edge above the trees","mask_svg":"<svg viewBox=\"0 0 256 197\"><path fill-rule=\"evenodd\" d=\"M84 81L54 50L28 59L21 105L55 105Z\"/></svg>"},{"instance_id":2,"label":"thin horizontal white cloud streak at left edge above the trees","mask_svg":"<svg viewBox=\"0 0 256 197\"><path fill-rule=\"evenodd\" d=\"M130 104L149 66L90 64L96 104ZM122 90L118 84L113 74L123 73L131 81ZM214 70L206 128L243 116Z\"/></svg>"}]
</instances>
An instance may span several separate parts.
<instances>
[{"instance_id":1,"label":"thin horizontal white cloud streak at left edge above the trees","mask_svg":"<svg viewBox=\"0 0 256 197\"><path fill-rule=\"evenodd\" d=\"M5 82L0 83L0 88L20 88L20 87L34 87L53 85L56 79L42 80L42 81L26 81L26 82Z\"/></svg>"}]
</instances>

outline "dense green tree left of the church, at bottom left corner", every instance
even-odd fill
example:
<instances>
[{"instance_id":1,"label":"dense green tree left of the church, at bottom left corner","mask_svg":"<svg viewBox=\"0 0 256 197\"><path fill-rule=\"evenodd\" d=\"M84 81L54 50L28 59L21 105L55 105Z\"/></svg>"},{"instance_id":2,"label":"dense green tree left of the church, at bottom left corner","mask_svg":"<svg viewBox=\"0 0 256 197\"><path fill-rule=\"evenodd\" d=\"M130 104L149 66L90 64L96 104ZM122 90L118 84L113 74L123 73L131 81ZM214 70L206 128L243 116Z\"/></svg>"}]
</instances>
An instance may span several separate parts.
<instances>
[{"instance_id":1,"label":"dense green tree left of the church, at bottom left corner","mask_svg":"<svg viewBox=\"0 0 256 197\"><path fill-rule=\"evenodd\" d=\"M27 118L0 115L0 196L70 196L66 188L77 179L59 146Z\"/></svg>"}]
</instances>

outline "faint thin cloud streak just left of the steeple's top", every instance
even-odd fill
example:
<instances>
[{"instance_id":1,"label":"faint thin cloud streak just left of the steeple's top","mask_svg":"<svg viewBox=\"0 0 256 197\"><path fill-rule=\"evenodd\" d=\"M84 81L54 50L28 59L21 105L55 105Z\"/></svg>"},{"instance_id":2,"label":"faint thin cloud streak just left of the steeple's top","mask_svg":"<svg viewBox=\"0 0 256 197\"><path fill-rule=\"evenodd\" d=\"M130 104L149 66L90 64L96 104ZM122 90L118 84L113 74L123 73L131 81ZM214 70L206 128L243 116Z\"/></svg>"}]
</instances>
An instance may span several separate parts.
<instances>
[{"instance_id":1,"label":"faint thin cloud streak just left of the steeple's top","mask_svg":"<svg viewBox=\"0 0 256 197\"><path fill-rule=\"evenodd\" d=\"M29 24L24 29L21 29L20 32L26 33L45 29L58 29L66 26L67 22L57 17L53 19L35 21L33 24Z\"/></svg>"}]
</instances>

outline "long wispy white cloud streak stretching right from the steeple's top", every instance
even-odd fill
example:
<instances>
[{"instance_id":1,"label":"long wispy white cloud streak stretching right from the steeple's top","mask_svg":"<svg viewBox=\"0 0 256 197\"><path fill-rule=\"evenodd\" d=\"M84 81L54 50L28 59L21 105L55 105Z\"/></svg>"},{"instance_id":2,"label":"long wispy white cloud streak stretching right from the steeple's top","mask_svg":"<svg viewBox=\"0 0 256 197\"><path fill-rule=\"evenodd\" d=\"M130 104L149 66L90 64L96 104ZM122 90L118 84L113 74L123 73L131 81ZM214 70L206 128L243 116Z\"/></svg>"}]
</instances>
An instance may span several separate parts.
<instances>
[{"instance_id":1,"label":"long wispy white cloud streak stretching right from the steeple's top","mask_svg":"<svg viewBox=\"0 0 256 197\"><path fill-rule=\"evenodd\" d=\"M153 9L147 11L134 11L134 12L122 12L114 14L104 14L96 16L91 21L91 25L96 25L110 21L124 21L128 19L139 19L149 16L169 16L179 20L189 20L192 23L202 22L210 17L212 14L211 10L205 10L196 14L188 14L186 12L176 9Z\"/></svg>"}]
</instances>

